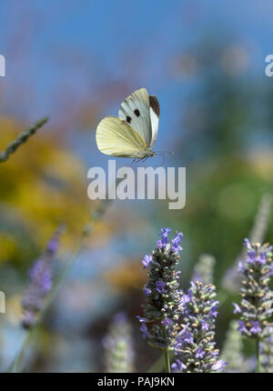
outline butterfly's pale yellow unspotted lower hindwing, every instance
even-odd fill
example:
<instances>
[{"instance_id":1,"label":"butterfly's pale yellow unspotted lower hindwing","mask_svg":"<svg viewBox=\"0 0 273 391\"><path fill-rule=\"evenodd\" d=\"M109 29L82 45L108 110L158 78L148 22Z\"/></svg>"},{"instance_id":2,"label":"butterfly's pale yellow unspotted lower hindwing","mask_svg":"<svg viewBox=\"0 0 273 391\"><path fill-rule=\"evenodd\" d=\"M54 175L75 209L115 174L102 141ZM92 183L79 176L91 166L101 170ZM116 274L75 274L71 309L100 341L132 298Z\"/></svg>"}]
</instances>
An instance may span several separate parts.
<instances>
[{"instance_id":1,"label":"butterfly's pale yellow unspotted lower hindwing","mask_svg":"<svg viewBox=\"0 0 273 391\"><path fill-rule=\"evenodd\" d=\"M141 135L117 116L106 116L97 125L96 145L103 154L117 157L135 157L147 147Z\"/></svg>"}]
</instances>

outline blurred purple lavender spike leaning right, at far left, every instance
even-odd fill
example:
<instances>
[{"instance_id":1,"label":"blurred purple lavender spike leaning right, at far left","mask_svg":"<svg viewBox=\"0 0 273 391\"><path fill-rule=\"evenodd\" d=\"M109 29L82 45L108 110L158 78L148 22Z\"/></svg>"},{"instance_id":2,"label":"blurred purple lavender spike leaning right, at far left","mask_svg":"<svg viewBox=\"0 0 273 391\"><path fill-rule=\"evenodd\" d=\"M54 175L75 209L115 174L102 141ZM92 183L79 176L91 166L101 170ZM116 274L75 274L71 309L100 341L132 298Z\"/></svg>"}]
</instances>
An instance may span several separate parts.
<instances>
[{"instance_id":1,"label":"blurred purple lavender spike leaning right, at far left","mask_svg":"<svg viewBox=\"0 0 273 391\"><path fill-rule=\"evenodd\" d=\"M29 284L22 299L24 316L22 325L30 328L35 325L38 313L43 309L45 297L52 288L51 261L56 256L59 236L63 229L56 231L45 249L29 271Z\"/></svg>"}]
</instances>

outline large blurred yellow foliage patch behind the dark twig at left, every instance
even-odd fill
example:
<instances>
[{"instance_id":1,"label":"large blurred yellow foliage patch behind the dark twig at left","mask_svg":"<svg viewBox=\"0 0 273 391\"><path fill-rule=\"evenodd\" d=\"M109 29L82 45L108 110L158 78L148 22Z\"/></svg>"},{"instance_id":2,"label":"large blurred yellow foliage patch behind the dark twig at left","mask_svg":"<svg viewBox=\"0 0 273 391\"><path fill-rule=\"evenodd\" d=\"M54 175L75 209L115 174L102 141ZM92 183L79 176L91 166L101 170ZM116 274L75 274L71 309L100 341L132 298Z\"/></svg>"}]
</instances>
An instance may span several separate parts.
<instances>
[{"instance_id":1,"label":"large blurred yellow foliage patch behind the dark twig at left","mask_svg":"<svg viewBox=\"0 0 273 391\"><path fill-rule=\"evenodd\" d=\"M3 150L22 128L9 118L0 118L0 128ZM86 168L63 144L56 132L42 129L1 166L0 262L25 259L25 248L31 254L45 246L63 224L63 244L75 246L90 220Z\"/></svg>"}]
</instances>

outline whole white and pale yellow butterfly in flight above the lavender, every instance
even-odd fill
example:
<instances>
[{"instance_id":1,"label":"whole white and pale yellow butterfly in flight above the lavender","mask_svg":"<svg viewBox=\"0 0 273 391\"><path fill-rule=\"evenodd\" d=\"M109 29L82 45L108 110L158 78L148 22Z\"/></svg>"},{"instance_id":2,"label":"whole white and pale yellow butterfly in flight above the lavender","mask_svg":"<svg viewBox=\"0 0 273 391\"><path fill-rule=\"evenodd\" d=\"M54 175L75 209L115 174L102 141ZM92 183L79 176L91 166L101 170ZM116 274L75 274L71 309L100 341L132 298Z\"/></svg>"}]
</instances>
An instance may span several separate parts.
<instances>
[{"instance_id":1,"label":"whole white and pale yellow butterfly in flight above the lavender","mask_svg":"<svg viewBox=\"0 0 273 391\"><path fill-rule=\"evenodd\" d=\"M146 88L136 90L120 105L117 116L106 116L96 128L96 145L106 155L142 160L154 156L160 106Z\"/></svg>"}]
</instances>

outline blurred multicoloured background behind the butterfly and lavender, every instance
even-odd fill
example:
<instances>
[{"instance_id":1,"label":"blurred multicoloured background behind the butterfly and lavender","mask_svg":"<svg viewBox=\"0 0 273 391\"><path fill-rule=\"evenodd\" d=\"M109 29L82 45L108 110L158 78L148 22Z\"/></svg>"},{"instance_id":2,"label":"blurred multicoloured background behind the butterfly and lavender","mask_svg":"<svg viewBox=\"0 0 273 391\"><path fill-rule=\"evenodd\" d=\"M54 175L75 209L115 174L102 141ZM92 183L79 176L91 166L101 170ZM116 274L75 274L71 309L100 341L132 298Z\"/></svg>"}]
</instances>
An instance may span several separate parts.
<instances>
[{"instance_id":1,"label":"blurred multicoloured background behind the butterfly and lavender","mask_svg":"<svg viewBox=\"0 0 273 391\"><path fill-rule=\"evenodd\" d=\"M112 316L126 311L134 329L136 370L160 352L138 331L141 259L161 226L184 235L182 285L203 253L216 257L215 284L252 229L260 200L273 193L273 5L243 0L60 0L0 5L0 150L48 115L37 135L0 167L0 365L9 365L25 331L21 296L27 270L60 225L57 263L77 246L96 202L87 198L88 168L106 167L96 125L116 115L140 87L161 105L157 150L174 151L166 166L187 167L187 205L116 201L96 224L56 297L25 362L26 371L103 371L101 340ZM125 159L116 159L125 165ZM160 160L150 159L148 165ZM266 240L273 241L272 218ZM220 307L222 346L232 297Z\"/></svg>"}]
</instances>

